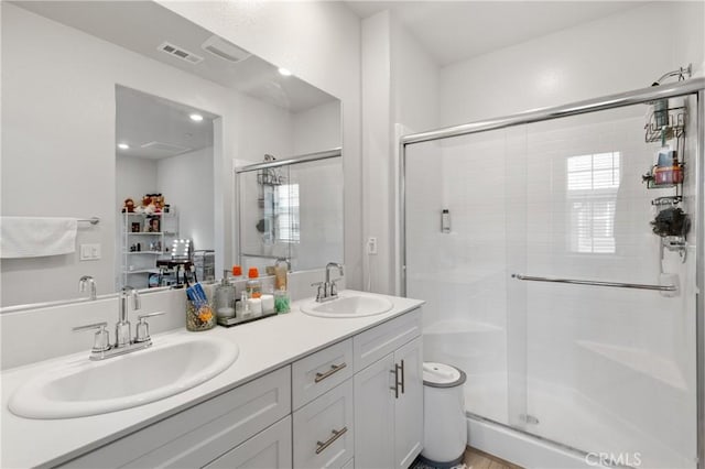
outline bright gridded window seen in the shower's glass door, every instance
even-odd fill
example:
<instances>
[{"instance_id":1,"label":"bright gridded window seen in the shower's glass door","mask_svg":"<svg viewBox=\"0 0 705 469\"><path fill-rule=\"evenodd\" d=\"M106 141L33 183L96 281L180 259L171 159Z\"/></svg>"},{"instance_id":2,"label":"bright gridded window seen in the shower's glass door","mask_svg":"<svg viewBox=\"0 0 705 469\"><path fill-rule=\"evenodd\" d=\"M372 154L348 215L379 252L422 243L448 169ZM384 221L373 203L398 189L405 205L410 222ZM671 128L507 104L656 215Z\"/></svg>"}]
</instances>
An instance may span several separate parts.
<instances>
[{"instance_id":1,"label":"bright gridded window seen in the shower's glass door","mask_svg":"<svg viewBox=\"0 0 705 469\"><path fill-rule=\"evenodd\" d=\"M566 165L571 252L615 252L619 162L619 152L568 156Z\"/></svg>"}]
</instances>

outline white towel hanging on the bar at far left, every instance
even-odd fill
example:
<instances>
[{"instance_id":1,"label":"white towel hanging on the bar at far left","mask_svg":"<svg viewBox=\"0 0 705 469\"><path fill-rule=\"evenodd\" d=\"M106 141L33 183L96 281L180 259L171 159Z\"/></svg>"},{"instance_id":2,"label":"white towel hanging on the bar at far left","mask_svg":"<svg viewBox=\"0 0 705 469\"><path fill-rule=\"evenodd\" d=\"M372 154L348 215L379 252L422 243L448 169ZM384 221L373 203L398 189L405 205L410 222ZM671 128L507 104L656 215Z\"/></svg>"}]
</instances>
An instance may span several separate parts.
<instances>
[{"instance_id":1,"label":"white towel hanging on the bar at far left","mask_svg":"<svg viewBox=\"0 0 705 469\"><path fill-rule=\"evenodd\" d=\"M2 217L0 258L40 258L76 251L76 218Z\"/></svg>"}]
</instances>

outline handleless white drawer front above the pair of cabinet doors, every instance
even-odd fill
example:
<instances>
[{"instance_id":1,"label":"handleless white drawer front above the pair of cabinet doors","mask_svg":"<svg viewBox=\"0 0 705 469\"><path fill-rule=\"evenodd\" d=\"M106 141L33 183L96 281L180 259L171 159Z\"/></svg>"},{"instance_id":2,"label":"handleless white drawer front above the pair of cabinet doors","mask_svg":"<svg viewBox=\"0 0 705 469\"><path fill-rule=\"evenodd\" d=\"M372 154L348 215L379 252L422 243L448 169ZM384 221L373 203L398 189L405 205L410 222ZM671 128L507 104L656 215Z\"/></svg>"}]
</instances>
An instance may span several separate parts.
<instances>
[{"instance_id":1,"label":"handleless white drawer front above the pair of cabinet doors","mask_svg":"<svg viewBox=\"0 0 705 469\"><path fill-rule=\"evenodd\" d=\"M421 308L380 324L352 338L355 372L393 352L421 335Z\"/></svg>"}]
</instances>

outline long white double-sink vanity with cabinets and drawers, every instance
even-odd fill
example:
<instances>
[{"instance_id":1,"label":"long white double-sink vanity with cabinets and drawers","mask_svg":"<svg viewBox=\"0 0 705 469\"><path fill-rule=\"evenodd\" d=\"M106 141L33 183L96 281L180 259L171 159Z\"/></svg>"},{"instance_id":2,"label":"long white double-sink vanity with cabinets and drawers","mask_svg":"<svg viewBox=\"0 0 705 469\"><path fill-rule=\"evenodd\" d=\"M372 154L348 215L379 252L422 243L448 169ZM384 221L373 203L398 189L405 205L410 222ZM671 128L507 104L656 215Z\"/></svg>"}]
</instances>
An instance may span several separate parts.
<instances>
[{"instance_id":1,"label":"long white double-sink vanity with cabinets and drawers","mask_svg":"<svg viewBox=\"0 0 705 469\"><path fill-rule=\"evenodd\" d=\"M302 301L290 314L232 328L158 334L150 349L97 364L87 364L85 350L8 369L0 466L406 468L423 440L423 302L351 291L341 296L336 301L347 297L345 305L392 306L360 317L314 316L301 312L308 308ZM165 348L174 352L162 357L176 355L187 363L164 358L162 364L154 357ZM200 384L186 384L220 353L229 353L231 364ZM152 368L143 366L147 360ZM95 372L100 367L119 375ZM87 368L88 378L76 379ZM139 402L152 388L182 384L188 389ZM9 410L28 390L39 396L36 406L54 405L56 413L47 414L53 418ZM82 402L94 406L87 412L93 415L61 417L62 408L80 408ZM100 411L116 402L122 410ZM24 402L24 408L32 404Z\"/></svg>"}]
</instances>

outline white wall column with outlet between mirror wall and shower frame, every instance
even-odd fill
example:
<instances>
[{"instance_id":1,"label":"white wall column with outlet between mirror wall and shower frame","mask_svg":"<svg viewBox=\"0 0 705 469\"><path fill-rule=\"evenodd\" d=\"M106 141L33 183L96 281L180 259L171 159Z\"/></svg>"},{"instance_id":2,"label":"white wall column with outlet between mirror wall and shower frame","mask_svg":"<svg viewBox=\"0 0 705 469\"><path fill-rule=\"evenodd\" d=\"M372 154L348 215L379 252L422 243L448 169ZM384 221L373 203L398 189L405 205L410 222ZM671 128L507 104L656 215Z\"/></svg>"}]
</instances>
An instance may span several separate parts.
<instances>
[{"instance_id":1,"label":"white wall column with outlet between mirror wall and shower frame","mask_svg":"<svg viewBox=\"0 0 705 469\"><path fill-rule=\"evenodd\" d=\"M366 287L397 291L398 141L438 122L438 67L395 18L382 11L362 21L362 149L365 239L377 238L378 254L366 255Z\"/></svg>"}]
</instances>

